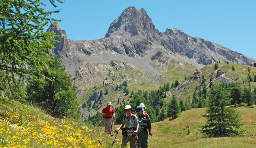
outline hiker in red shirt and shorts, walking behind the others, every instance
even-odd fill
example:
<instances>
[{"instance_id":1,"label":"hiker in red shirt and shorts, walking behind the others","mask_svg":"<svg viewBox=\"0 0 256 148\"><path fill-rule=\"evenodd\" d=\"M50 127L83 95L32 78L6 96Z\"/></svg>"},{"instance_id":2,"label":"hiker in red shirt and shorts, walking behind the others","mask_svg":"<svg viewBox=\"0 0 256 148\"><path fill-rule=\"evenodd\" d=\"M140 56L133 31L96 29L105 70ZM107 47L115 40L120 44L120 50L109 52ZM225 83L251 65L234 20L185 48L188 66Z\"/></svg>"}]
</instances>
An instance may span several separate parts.
<instances>
[{"instance_id":1,"label":"hiker in red shirt and shorts, walking behind the others","mask_svg":"<svg viewBox=\"0 0 256 148\"><path fill-rule=\"evenodd\" d=\"M111 107L111 102L108 102L107 107L104 107L101 111L101 115L103 116L103 121L105 125L105 132L111 136L111 126L113 118L115 117L115 110Z\"/></svg>"}]
</instances>

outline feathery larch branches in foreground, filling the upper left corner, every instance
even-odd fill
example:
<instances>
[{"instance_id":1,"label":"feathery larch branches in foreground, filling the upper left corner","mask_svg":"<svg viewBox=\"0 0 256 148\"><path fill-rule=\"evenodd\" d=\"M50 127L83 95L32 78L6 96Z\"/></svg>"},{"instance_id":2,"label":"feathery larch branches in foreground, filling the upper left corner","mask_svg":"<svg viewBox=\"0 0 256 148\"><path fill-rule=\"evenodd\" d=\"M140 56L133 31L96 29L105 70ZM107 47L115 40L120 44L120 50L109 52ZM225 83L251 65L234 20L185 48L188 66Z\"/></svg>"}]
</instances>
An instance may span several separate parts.
<instances>
[{"instance_id":1,"label":"feathery larch branches in foreground, filling the upper left corner","mask_svg":"<svg viewBox=\"0 0 256 148\"><path fill-rule=\"evenodd\" d=\"M55 6L54 0L49 0ZM62 3L62 1L57 0ZM56 6L55 6L56 7ZM43 75L49 49L57 37L46 32L59 11L45 11L39 0L1 0L0 2L0 93L13 93L26 76Z\"/></svg>"}]
</instances>

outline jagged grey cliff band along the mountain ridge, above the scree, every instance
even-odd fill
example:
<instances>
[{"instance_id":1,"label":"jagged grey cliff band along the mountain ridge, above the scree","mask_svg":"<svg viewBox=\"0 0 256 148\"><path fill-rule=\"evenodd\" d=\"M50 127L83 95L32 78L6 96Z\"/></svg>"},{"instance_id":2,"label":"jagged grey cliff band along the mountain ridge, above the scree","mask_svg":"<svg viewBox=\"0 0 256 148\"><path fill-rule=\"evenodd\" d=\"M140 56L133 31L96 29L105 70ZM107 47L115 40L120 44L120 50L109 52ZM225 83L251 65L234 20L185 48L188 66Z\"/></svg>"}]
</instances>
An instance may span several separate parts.
<instances>
[{"instance_id":1,"label":"jagged grey cliff band along the mountain ridge, above the scree","mask_svg":"<svg viewBox=\"0 0 256 148\"><path fill-rule=\"evenodd\" d=\"M144 56L146 50L154 47L164 48L182 56L183 59L193 60L201 65L208 65L218 60L250 65L254 60L234 52L216 43L199 37L192 37L179 29L166 29L159 32L144 9L128 7L115 19L102 39L72 41L67 38L64 30L57 23L51 25L48 31L54 31L59 38L54 54L65 59L74 52L86 55L101 55L103 52L127 55L130 57ZM192 63L194 65L194 63ZM200 67L198 65L195 65Z\"/></svg>"}]
</instances>

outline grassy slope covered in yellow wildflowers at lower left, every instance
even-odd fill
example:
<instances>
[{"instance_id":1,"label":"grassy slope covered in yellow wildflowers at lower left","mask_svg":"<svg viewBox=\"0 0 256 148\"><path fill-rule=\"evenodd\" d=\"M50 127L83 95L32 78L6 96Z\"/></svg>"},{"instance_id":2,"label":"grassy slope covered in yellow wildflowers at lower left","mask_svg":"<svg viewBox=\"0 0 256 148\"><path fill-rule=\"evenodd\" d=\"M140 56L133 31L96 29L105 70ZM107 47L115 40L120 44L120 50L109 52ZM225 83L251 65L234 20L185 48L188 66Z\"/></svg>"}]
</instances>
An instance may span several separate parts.
<instances>
[{"instance_id":1,"label":"grassy slope covered in yellow wildflowers at lower left","mask_svg":"<svg viewBox=\"0 0 256 148\"><path fill-rule=\"evenodd\" d=\"M40 109L1 96L0 136L0 148L109 148L113 141L101 128L52 118ZM119 145L117 140L114 147Z\"/></svg>"}]
</instances>

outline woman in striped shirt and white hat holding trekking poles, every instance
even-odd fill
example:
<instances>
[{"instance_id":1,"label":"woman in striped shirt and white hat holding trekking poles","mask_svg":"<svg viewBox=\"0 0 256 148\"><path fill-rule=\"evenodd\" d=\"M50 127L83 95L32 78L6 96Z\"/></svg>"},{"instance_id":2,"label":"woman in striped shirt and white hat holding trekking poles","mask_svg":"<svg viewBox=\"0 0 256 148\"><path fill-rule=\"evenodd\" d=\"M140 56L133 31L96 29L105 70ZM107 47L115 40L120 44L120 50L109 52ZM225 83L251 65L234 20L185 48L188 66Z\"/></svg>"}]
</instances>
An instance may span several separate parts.
<instances>
[{"instance_id":1,"label":"woman in striped shirt and white hat holding trekking poles","mask_svg":"<svg viewBox=\"0 0 256 148\"><path fill-rule=\"evenodd\" d=\"M132 114L132 108L130 105L126 105L124 111L126 114L122 119L122 124L116 129L116 131L122 129L123 138L121 147L126 147L129 141L130 148L137 148L137 133L139 129L137 116ZM125 128L123 128L124 125Z\"/></svg>"}]
</instances>

